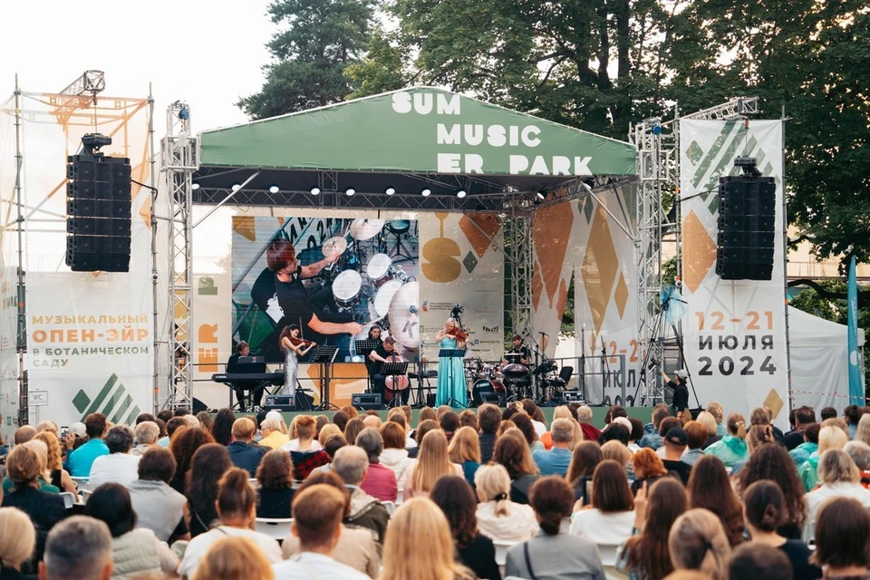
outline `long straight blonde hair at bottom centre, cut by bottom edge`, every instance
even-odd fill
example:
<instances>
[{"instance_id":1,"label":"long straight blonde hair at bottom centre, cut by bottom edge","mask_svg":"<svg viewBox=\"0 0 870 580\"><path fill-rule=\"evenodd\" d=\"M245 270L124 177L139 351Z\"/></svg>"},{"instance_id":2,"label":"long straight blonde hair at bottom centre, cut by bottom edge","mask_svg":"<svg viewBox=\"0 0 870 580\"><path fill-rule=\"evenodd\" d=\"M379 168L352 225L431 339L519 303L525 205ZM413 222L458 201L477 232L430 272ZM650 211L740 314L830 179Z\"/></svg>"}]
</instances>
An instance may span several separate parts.
<instances>
[{"instance_id":1,"label":"long straight blonde hair at bottom centre, cut by bottom edge","mask_svg":"<svg viewBox=\"0 0 870 580\"><path fill-rule=\"evenodd\" d=\"M387 527L380 580L453 580L466 574L454 560L453 537L440 507L429 498L405 501Z\"/></svg>"}]
</instances>

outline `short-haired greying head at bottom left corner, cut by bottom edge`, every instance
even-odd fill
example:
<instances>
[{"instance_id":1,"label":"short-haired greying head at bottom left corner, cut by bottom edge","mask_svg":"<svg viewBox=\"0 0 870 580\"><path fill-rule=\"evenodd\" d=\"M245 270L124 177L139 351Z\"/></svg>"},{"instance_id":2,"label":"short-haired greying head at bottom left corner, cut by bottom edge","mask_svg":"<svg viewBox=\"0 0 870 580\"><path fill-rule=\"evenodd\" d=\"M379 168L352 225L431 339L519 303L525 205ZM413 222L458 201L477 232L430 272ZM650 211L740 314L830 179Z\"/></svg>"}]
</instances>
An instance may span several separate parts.
<instances>
[{"instance_id":1,"label":"short-haired greying head at bottom left corner, cut by bottom edge","mask_svg":"<svg viewBox=\"0 0 870 580\"><path fill-rule=\"evenodd\" d=\"M111 534L98 519L67 517L48 533L41 580L104 580L111 575Z\"/></svg>"}]
</instances>

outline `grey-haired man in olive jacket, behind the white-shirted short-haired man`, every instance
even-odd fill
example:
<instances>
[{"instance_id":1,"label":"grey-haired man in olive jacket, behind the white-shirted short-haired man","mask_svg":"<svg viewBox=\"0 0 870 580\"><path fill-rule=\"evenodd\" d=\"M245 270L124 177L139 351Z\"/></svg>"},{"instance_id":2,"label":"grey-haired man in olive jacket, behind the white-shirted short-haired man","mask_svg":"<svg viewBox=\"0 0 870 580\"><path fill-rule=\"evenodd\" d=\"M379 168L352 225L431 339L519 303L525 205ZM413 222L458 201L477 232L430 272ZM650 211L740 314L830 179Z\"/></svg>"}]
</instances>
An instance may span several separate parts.
<instances>
[{"instance_id":1,"label":"grey-haired man in olive jacket, behind the white-shirted short-haired man","mask_svg":"<svg viewBox=\"0 0 870 580\"><path fill-rule=\"evenodd\" d=\"M335 452L333 471L351 490L351 507L344 517L344 524L347 527L364 527L371 530L375 541L382 545L390 514L377 498L372 498L360 488L368 469L369 457L359 447L348 445Z\"/></svg>"}]
</instances>

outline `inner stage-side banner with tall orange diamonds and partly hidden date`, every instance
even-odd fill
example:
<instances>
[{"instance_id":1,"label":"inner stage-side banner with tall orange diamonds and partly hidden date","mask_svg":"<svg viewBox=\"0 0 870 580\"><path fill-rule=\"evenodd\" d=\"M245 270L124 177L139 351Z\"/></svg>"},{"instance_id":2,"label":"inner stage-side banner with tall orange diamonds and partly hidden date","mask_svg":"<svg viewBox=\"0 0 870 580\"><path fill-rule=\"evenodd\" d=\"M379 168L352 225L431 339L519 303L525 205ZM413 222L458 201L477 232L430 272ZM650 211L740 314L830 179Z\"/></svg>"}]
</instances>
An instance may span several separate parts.
<instances>
[{"instance_id":1,"label":"inner stage-side banner with tall orange diamonds and partly hidden date","mask_svg":"<svg viewBox=\"0 0 870 580\"><path fill-rule=\"evenodd\" d=\"M633 185L573 204L575 372L585 401L633 405L638 365ZM600 200L600 202L599 202Z\"/></svg>"}]
</instances>

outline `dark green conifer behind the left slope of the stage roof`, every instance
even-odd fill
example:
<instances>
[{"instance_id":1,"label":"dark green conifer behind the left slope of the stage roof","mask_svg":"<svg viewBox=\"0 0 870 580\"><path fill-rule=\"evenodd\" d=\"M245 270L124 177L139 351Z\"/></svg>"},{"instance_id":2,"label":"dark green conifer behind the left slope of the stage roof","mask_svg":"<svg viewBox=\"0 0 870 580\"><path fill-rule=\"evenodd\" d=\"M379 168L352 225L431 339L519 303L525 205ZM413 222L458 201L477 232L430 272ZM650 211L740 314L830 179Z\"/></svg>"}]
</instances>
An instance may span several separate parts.
<instances>
[{"instance_id":1,"label":"dark green conifer behind the left slope of the stage roof","mask_svg":"<svg viewBox=\"0 0 870 580\"><path fill-rule=\"evenodd\" d=\"M275 0L268 13L285 29L267 44L266 84L237 102L253 119L342 102L353 91L345 69L367 47L374 0Z\"/></svg>"}]
</instances>

